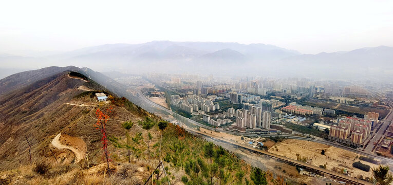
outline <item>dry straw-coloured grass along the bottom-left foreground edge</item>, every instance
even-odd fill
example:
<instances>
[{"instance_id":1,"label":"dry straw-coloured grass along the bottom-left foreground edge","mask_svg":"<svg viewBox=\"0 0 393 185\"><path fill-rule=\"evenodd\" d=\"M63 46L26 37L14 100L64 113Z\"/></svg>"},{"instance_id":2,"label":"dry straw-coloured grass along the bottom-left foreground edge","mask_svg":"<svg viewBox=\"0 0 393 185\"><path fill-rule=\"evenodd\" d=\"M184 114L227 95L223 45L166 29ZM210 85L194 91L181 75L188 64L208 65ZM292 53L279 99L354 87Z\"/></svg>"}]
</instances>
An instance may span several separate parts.
<instances>
[{"instance_id":1,"label":"dry straw-coloured grass along the bottom-left foreground edge","mask_svg":"<svg viewBox=\"0 0 393 185\"><path fill-rule=\"evenodd\" d=\"M143 184L143 179L149 175L144 168L145 165L144 161L119 166L111 164L110 175L105 171L106 163L85 170L79 165L55 165L43 175L33 172L34 164L24 165L15 170L1 172L0 184Z\"/></svg>"}]
</instances>

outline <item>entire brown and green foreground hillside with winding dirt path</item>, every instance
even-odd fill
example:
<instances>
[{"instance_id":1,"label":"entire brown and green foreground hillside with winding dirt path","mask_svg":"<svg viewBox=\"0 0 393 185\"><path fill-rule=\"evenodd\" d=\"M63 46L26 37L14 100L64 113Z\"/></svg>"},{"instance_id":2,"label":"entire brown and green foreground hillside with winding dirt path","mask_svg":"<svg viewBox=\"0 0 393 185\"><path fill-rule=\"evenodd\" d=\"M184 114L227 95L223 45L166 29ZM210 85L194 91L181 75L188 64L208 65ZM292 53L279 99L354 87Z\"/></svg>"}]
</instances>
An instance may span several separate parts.
<instances>
[{"instance_id":1,"label":"entire brown and green foreground hillside with winding dirt path","mask_svg":"<svg viewBox=\"0 0 393 185\"><path fill-rule=\"evenodd\" d=\"M98 102L93 90L106 89L80 73L64 71L15 86L0 98L4 105L0 108L0 184L143 184L159 159L168 176L161 174L154 184L168 180L172 184L243 184L251 181L251 174L284 182L125 98L106 93L109 100ZM122 124L134 123L128 131L132 160L128 162L127 151L118 148L124 144L111 142L110 171L101 150L101 132L93 126L98 109L110 117L106 131L111 141L126 142ZM159 122L167 124L166 129L161 131ZM43 166L47 168L39 168ZM216 173L211 169L217 169Z\"/></svg>"}]
</instances>

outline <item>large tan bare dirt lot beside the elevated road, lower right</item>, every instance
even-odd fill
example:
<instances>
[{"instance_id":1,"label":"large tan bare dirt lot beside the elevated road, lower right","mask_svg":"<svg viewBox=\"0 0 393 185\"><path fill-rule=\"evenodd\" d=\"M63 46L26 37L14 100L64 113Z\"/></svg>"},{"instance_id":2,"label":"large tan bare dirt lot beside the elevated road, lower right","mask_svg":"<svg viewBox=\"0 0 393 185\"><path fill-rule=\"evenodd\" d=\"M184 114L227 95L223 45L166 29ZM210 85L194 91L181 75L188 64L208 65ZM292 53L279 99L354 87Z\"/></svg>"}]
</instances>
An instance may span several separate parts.
<instances>
[{"instance_id":1,"label":"large tan bare dirt lot beside the elevated road, lower right","mask_svg":"<svg viewBox=\"0 0 393 185\"><path fill-rule=\"evenodd\" d=\"M322 150L325 151L325 155L322 155ZM357 168L352 167L354 161L359 161L358 154L349 152L343 149L339 149L326 144L303 141L296 139L287 139L283 142L276 143L269 149L269 152L285 156L291 159L297 159L297 155L306 157L307 162L319 167L320 165L326 164L326 169L340 172L341 169L347 170L352 177L363 178L371 177L371 171L365 172ZM363 164L369 165L371 168L378 167L378 165L361 161Z\"/></svg>"}]
</instances>

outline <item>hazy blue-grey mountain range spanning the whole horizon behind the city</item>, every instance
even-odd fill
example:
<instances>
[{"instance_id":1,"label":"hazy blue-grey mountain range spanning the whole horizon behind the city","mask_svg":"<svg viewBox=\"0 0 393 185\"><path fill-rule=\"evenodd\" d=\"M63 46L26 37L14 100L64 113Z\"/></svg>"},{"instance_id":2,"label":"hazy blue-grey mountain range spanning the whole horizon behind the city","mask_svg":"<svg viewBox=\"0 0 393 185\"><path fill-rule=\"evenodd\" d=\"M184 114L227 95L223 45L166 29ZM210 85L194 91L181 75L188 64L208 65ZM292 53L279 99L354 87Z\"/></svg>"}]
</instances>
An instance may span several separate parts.
<instances>
[{"instance_id":1,"label":"hazy blue-grey mountain range spanning the whole horizon behind the city","mask_svg":"<svg viewBox=\"0 0 393 185\"><path fill-rule=\"evenodd\" d=\"M393 47L379 46L345 52L301 54L265 44L153 41L143 44L106 44L32 58L0 55L5 68L40 63L88 66L99 71L197 72L305 77L380 78L393 73ZM12 67L14 66L14 67ZM220 70L217 70L220 69ZM332 70L326 73L327 70ZM349 75L348 75L349 74Z\"/></svg>"}]
</instances>

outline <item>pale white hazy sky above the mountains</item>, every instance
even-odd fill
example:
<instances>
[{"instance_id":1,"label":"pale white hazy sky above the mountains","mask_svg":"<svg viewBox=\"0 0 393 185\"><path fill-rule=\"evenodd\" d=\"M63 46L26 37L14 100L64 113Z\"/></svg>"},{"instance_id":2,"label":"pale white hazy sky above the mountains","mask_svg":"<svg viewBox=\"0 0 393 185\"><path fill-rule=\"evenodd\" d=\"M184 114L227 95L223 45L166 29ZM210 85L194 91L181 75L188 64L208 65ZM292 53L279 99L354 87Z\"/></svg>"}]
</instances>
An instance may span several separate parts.
<instances>
[{"instance_id":1,"label":"pale white hazy sky above the mountains","mask_svg":"<svg viewBox=\"0 0 393 185\"><path fill-rule=\"evenodd\" d=\"M393 1L2 1L0 53L154 40L393 46Z\"/></svg>"}]
</instances>

